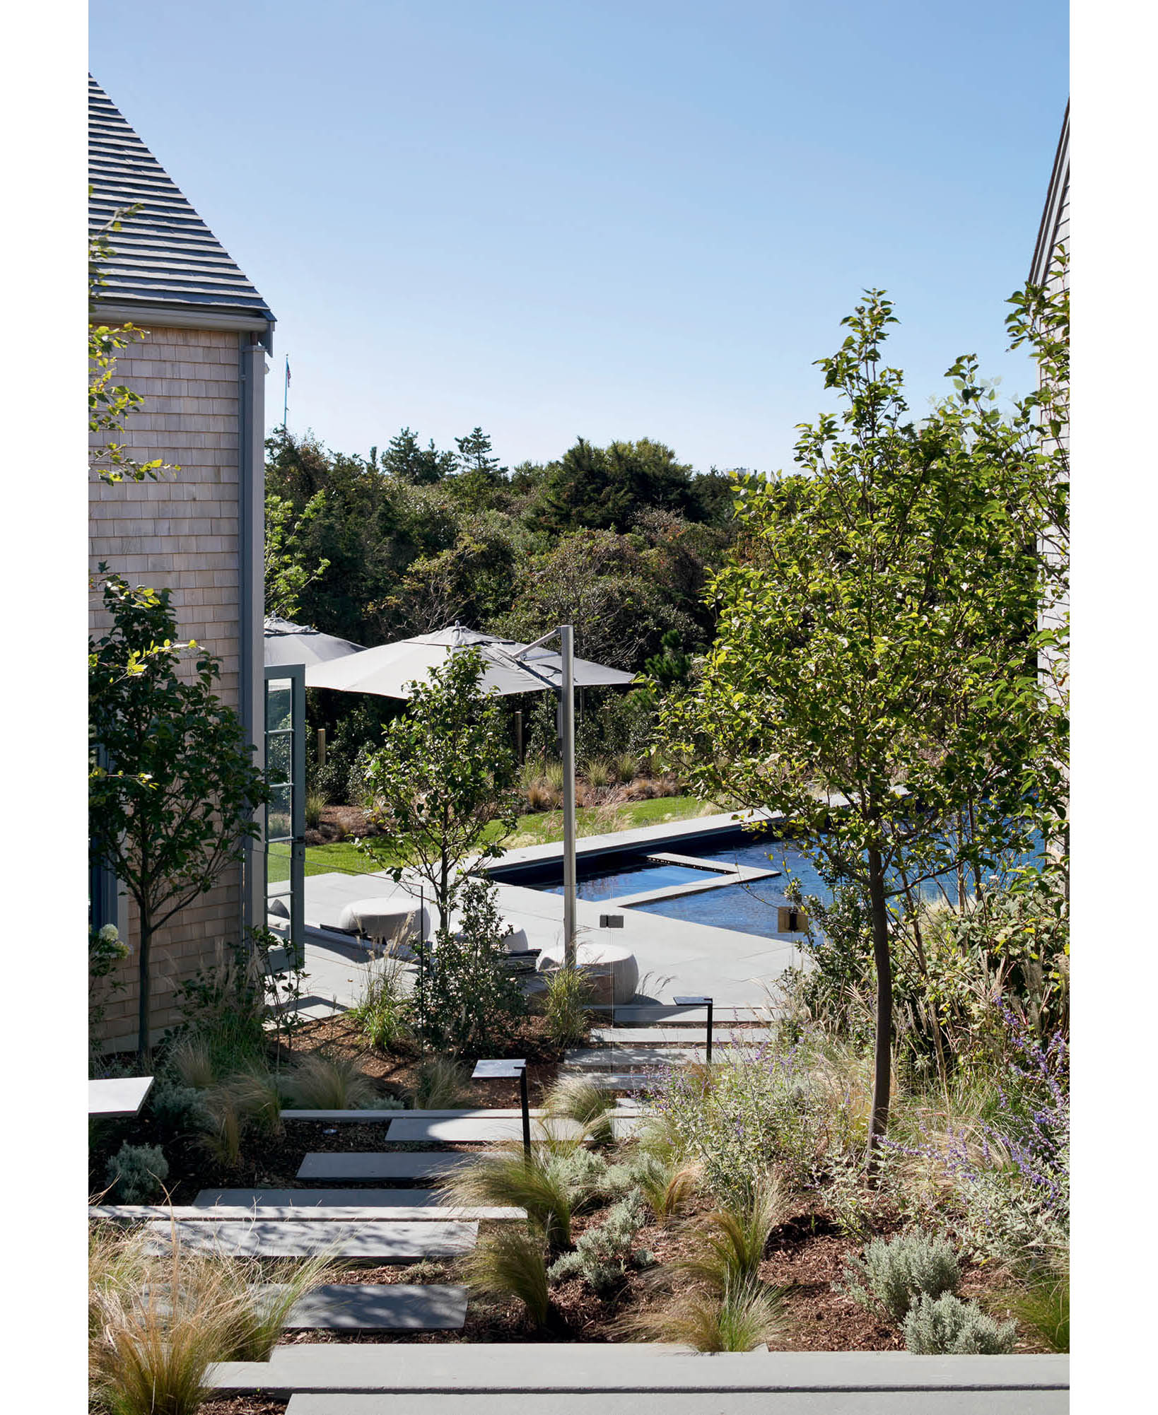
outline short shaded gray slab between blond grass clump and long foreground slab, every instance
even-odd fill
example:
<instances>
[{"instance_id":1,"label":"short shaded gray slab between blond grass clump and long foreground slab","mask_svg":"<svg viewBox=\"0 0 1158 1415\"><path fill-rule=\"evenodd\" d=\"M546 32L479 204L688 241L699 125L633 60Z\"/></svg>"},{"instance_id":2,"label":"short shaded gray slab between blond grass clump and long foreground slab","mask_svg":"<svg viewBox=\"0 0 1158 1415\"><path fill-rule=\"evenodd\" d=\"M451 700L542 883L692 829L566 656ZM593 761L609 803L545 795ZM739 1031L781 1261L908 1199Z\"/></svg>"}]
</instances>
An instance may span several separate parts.
<instances>
[{"instance_id":1,"label":"short shaded gray slab between blond grass clump and long foreground slab","mask_svg":"<svg viewBox=\"0 0 1158 1415\"><path fill-rule=\"evenodd\" d=\"M260 1292L285 1292L269 1282ZM326 1282L290 1307L289 1332L460 1332L466 1288L409 1282Z\"/></svg>"}]
</instances>

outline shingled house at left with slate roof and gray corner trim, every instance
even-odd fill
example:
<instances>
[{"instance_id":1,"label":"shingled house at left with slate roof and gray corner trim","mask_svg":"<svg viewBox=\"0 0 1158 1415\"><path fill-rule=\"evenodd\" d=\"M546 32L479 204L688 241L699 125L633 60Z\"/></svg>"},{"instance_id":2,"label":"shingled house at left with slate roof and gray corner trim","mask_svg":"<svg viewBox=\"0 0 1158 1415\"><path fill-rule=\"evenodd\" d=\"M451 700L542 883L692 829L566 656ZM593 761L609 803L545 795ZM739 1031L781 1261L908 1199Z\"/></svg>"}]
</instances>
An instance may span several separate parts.
<instances>
[{"instance_id":1,"label":"shingled house at left with slate roof and gray corner trim","mask_svg":"<svg viewBox=\"0 0 1158 1415\"><path fill-rule=\"evenodd\" d=\"M108 562L137 584L167 587L183 638L222 661L219 693L262 744L263 382L273 316L177 184L89 78L89 228L126 207L92 306L99 324L147 331L126 348L116 382L144 396L123 439L139 460L180 467L159 481L89 484L91 570ZM91 630L106 627L93 597ZM153 1019L176 1020L180 979L263 921L259 852L190 904L154 942ZM133 941L132 908L116 880L95 870L95 924L116 923ZM134 1046L136 969L106 1007L106 1046Z\"/></svg>"}]
</instances>

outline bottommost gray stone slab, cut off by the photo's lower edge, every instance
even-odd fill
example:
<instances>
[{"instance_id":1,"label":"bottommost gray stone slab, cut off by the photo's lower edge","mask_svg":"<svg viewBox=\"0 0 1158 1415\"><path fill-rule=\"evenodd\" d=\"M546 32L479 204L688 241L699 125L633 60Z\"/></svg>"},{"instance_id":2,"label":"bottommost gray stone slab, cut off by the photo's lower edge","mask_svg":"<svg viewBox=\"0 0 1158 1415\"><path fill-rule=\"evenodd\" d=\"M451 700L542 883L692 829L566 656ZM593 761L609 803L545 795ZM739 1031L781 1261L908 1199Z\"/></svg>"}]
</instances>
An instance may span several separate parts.
<instances>
[{"instance_id":1,"label":"bottommost gray stone slab, cut off by the photo's lower edge","mask_svg":"<svg viewBox=\"0 0 1158 1415\"><path fill-rule=\"evenodd\" d=\"M551 1415L1067 1415L1069 1391L595 1391ZM290 1397L286 1415L398 1415L396 1395ZM406 1415L544 1415L542 1395L406 1395Z\"/></svg>"}]
</instances>

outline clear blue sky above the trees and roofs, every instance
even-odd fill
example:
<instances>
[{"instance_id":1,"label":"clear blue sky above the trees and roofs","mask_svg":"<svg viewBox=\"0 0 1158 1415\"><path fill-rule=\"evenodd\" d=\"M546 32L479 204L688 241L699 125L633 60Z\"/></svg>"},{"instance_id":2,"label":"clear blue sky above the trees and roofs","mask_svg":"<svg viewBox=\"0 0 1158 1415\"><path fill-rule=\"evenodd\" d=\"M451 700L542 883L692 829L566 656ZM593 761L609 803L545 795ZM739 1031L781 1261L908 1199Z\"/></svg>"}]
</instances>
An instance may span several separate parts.
<instances>
[{"instance_id":1,"label":"clear blue sky above the trees and roofs","mask_svg":"<svg viewBox=\"0 0 1158 1415\"><path fill-rule=\"evenodd\" d=\"M91 69L277 316L290 429L786 466L862 287L1007 392L1060 0L91 6Z\"/></svg>"}]
</instances>

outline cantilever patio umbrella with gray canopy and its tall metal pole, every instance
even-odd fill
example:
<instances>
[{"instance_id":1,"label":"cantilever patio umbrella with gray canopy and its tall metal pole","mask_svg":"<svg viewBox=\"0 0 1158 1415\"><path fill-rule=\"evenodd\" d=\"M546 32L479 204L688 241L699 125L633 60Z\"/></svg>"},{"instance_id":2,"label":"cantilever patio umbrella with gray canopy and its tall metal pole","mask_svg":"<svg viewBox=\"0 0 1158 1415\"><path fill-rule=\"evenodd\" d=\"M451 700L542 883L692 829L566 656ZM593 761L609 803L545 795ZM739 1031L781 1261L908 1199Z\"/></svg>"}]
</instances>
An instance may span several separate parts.
<instances>
[{"instance_id":1,"label":"cantilever patio umbrella with gray canopy and its tall metal pole","mask_svg":"<svg viewBox=\"0 0 1158 1415\"><path fill-rule=\"evenodd\" d=\"M546 641L559 638L559 651ZM563 749L563 948L568 962L575 961L575 688L604 685L626 686L633 674L606 668L585 658L575 658L573 630L562 624L534 644L495 638L454 624L436 634L419 634L379 648L365 648L324 664L306 666L307 688L336 688L347 693L379 693L382 698L409 698L409 685L422 682L432 668L445 664L456 651L477 648L483 657L483 691L491 693L532 693L554 689L561 696L561 736Z\"/></svg>"}]
</instances>

